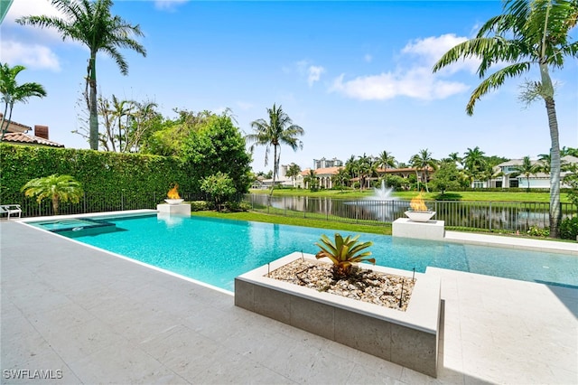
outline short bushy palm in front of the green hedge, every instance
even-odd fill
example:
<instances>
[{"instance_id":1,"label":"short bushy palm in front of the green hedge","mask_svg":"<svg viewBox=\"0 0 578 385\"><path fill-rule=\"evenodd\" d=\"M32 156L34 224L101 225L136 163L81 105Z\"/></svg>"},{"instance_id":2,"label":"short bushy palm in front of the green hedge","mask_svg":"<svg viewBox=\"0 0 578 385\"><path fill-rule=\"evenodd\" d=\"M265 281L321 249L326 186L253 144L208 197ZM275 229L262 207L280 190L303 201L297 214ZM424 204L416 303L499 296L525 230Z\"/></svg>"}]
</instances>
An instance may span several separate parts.
<instances>
[{"instance_id":1,"label":"short bushy palm in front of the green hedge","mask_svg":"<svg viewBox=\"0 0 578 385\"><path fill-rule=\"evenodd\" d=\"M78 203L84 193L80 183L72 176L59 174L28 181L23 185L22 191L26 196L35 196L39 203L44 198L50 198L55 215L58 214L60 201Z\"/></svg>"}]
</instances>

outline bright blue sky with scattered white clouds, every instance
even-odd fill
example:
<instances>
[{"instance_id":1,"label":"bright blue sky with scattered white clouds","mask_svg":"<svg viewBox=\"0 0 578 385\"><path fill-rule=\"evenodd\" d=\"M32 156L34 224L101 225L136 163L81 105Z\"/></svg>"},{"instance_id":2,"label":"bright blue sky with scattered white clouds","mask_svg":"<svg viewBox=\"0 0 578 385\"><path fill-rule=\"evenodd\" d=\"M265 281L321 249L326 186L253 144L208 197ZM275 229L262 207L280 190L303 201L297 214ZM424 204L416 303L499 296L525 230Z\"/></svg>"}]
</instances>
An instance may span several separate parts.
<instances>
[{"instance_id":1,"label":"bright blue sky with scattered white clouds","mask_svg":"<svg viewBox=\"0 0 578 385\"><path fill-rule=\"evenodd\" d=\"M281 163L303 169L314 158L345 161L384 150L408 162L425 148L437 159L475 146L486 155L536 158L550 147L544 103L517 99L525 79L538 79L536 70L481 99L472 117L465 106L480 83L477 63L431 71L500 11L499 1L117 1L113 13L140 24L147 57L124 51L123 76L100 54L98 89L108 98L153 100L165 117L175 116L172 108L231 108L245 133L281 104L305 130L303 150L282 147ZM23 64L19 83L36 81L48 92L15 105L13 120L47 125L51 140L88 148L70 133L79 125L88 50L14 23L53 12L48 0L15 0L0 27L0 61ZM560 144L578 147L578 63L568 60L552 75ZM255 171L271 169L264 154L257 149Z\"/></svg>"}]
</instances>

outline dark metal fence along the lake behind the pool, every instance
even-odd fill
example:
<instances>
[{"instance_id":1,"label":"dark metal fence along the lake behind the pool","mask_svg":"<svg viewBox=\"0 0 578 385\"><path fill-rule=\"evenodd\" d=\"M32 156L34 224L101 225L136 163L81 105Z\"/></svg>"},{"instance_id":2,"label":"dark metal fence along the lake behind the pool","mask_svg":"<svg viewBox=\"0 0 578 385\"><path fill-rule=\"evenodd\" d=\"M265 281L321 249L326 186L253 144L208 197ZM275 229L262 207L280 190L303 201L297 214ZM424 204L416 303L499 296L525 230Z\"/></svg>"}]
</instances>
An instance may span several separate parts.
<instances>
[{"instance_id":1,"label":"dark metal fence along the lake behind the pool","mask_svg":"<svg viewBox=\"0 0 578 385\"><path fill-rule=\"evenodd\" d=\"M405 200L340 200L311 197L270 197L268 194L246 194L244 201L252 210L290 217L341 221L374 225L390 225L406 217L409 201ZM435 220L445 221L449 228L489 231L527 231L536 226L549 227L547 202L426 202L435 211ZM562 203L563 218L578 215L572 203Z\"/></svg>"}]
</instances>

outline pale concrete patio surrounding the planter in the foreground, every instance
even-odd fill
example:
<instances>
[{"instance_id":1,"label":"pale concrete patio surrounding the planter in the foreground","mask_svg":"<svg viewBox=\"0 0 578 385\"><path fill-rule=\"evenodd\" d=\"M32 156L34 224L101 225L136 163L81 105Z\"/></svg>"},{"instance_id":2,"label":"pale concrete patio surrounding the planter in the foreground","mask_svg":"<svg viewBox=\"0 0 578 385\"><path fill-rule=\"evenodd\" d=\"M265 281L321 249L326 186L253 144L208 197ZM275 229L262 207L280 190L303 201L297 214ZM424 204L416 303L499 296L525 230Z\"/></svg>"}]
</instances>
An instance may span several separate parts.
<instances>
[{"instance_id":1,"label":"pale concrete patio surrounding the planter in the foreground","mask_svg":"<svg viewBox=\"0 0 578 385\"><path fill-rule=\"evenodd\" d=\"M429 268L444 300L433 379L70 239L15 221L0 237L2 383L578 383L575 288Z\"/></svg>"}]
</instances>

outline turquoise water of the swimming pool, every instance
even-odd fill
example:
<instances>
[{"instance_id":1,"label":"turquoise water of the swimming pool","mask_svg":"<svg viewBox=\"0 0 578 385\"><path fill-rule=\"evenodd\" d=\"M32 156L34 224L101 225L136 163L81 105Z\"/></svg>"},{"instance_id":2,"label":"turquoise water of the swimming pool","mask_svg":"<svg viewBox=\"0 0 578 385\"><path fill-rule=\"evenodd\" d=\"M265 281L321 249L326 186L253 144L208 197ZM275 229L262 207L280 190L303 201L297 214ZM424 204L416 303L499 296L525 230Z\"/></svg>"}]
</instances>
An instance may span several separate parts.
<instances>
[{"instance_id":1,"label":"turquoise water of the swimming pool","mask_svg":"<svg viewBox=\"0 0 578 385\"><path fill-rule=\"evenodd\" d=\"M204 218L107 218L119 231L75 239L233 291L234 279L294 251L315 254L322 234L335 231ZM347 235L345 231L339 231ZM578 286L576 256L488 248L362 233L377 264L424 272L428 266L496 277Z\"/></svg>"}]
</instances>

